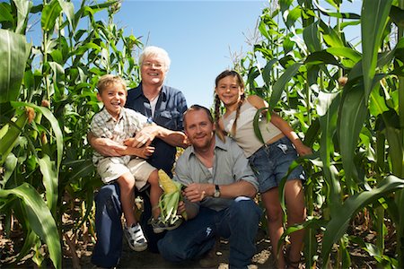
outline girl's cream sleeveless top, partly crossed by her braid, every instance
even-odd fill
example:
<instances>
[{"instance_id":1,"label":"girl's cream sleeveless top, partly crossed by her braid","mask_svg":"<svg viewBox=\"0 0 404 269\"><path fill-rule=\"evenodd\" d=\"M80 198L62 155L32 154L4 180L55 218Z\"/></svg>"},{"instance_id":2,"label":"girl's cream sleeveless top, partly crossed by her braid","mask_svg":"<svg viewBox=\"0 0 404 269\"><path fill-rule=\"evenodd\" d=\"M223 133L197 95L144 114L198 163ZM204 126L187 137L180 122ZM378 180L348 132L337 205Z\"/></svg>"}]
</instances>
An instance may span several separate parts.
<instances>
[{"instance_id":1,"label":"girl's cream sleeveless top, partly crossed by her braid","mask_svg":"<svg viewBox=\"0 0 404 269\"><path fill-rule=\"evenodd\" d=\"M233 139L242 147L244 154L249 158L254 152L257 152L263 145L254 133L253 121L257 108L252 106L248 100L245 100L240 108L240 115L237 118L236 134L233 135L231 130L233 127L236 111L233 111L227 117L222 117L224 130L231 134ZM259 117L259 130L265 142L268 142L278 134L282 134L281 130L274 126L271 122L267 122L266 117Z\"/></svg>"}]
</instances>

